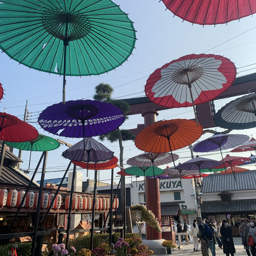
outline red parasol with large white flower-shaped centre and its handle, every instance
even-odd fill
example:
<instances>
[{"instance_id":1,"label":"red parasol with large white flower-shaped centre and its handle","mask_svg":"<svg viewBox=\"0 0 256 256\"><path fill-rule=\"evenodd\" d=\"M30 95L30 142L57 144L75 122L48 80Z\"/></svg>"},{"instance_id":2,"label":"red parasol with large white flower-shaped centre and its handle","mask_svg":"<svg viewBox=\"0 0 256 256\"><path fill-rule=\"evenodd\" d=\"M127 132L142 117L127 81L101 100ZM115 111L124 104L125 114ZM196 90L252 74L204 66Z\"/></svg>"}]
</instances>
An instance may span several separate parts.
<instances>
[{"instance_id":1,"label":"red parasol with large white flower-shaped centre and its handle","mask_svg":"<svg viewBox=\"0 0 256 256\"><path fill-rule=\"evenodd\" d=\"M145 93L160 106L194 107L222 94L235 78L236 67L228 58L190 54L155 70L147 80ZM195 108L194 113L196 116Z\"/></svg>"}]
</instances>

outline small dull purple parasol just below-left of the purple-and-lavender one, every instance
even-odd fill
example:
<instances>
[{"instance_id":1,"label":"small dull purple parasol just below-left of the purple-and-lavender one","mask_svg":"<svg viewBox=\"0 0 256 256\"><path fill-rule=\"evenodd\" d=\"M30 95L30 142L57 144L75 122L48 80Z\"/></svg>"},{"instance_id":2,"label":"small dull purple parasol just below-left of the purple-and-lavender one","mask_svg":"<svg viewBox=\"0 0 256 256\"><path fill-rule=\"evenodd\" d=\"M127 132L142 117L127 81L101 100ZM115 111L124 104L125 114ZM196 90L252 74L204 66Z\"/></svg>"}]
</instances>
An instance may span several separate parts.
<instances>
[{"instance_id":1,"label":"small dull purple parasol just below-left of the purple-and-lavender one","mask_svg":"<svg viewBox=\"0 0 256 256\"><path fill-rule=\"evenodd\" d=\"M178 166L178 168L180 170L199 170L200 180L201 180L201 184L202 184L200 170L212 168L212 167L218 166L220 164L222 164L222 162L220 162L220 161L216 161L216 160L213 160L210 158L203 158L203 157L196 156L195 158L192 158L192 159L184 162L183 164L180 164Z\"/></svg>"}]
</instances>

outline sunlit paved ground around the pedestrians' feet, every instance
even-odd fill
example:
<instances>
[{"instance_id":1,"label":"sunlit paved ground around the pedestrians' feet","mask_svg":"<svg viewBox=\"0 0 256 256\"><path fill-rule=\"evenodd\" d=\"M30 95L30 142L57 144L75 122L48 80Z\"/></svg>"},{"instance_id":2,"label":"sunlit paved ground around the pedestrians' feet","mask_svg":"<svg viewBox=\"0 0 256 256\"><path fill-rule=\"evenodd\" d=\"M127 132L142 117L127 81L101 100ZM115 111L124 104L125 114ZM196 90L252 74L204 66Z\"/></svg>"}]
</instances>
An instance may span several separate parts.
<instances>
[{"instance_id":1,"label":"sunlit paved ground around the pedestrians' feet","mask_svg":"<svg viewBox=\"0 0 256 256\"><path fill-rule=\"evenodd\" d=\"M235 244L235 248L236 248L236 254L235 256L247 256L245 250L244 250L244 246L242 246L241 244L241 238L240 237L234 237L234 244ZM154 256L156 254L153 254ZM166 256L167 254L160 254L160 256ZM168 254L170 255L170 254ZM202 255L201 251L200 251L200 245L199 245L199 252L194 252L193 251L193 244L187 244L187 245L183 245L181 250L173 250L172 251L172 256L190 256L190 255L194 255L194 256L200 256ZM171 256L170 255L170 256ZM209 256L212 256L212 254L209 252ZM216 248L216 256L226 256L226 254L223 253L223 250L220 248Z\"/></svg>"}]
</instances>

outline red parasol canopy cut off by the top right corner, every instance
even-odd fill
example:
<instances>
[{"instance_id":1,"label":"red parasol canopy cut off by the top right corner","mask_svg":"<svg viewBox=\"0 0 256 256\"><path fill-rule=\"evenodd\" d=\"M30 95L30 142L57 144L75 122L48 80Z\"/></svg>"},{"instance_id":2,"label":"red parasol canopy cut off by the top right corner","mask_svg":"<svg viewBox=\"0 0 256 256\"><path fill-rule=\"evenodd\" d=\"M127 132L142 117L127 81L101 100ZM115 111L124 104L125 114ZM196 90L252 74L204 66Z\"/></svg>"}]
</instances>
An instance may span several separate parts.
<instances>
[{"instance_id":1,"label":"red parasol canopy cut off by the top right corner","mask_svg":"<svg viewBox=\"0 0 256 256\"><path fill-rule=\"evenodd\" d=\"M166 9L191 23L216 25L256 12L255 0L162 0Z\"/></svg>"}]
</instances>

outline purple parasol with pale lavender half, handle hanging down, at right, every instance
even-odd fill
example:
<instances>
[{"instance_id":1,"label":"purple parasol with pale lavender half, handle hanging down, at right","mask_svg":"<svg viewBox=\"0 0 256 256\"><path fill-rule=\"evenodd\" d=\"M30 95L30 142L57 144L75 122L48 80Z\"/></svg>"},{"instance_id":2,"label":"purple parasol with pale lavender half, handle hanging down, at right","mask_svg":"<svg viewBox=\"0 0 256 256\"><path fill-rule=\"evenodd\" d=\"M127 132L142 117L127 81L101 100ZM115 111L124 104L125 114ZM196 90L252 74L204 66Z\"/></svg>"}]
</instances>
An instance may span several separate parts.
<instances>
[{"instance_id":1,"label":"purple parasol with pale lavender half, handle hanging down, at right","mask_svg":"<svg viewBox=\"0 0 256 256\"><path fill-rule=\"evenodd\" d=\"M224 164L222 150L227 150L229 148L235 148L237 146L240 146L241 144L247 142L249 139L250 137L247 135L220 134L219 132L216 132L213 136L196 143L192 147L192 150L194 152L212 152L212 151L220 150L222 162ZM226 171L225 165L224 165L224 169Z\"/></svg>"}]
</instances>

